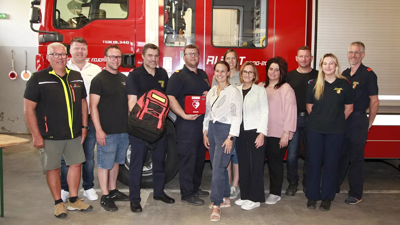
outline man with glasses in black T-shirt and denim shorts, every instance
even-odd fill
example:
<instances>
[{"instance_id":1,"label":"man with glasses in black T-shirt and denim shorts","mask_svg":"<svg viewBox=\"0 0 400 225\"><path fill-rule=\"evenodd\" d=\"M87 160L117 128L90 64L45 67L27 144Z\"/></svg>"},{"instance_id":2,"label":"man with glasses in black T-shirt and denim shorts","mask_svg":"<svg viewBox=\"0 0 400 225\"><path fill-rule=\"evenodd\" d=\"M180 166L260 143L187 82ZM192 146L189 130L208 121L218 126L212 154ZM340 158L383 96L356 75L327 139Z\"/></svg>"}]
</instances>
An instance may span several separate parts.
<instances>
[{"instance_id":1,"label":"man with glasses in black T-shirt and denim shorts","mask_svg":"<svg viewBox=\"0 0 400 225\"><path fill-rule=\"evenodd\" d=\"M118 45L104 50L106 69L93 78L90 85L90 115L96 129L97 175L106 211L117 211L114 201L129 201L117 189L120 165L125 163L128 139L128 97L126 76L118 71L122 54Z\"/></svg>"}]
</instances>

